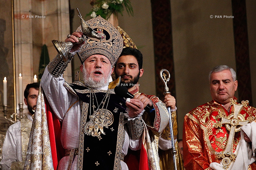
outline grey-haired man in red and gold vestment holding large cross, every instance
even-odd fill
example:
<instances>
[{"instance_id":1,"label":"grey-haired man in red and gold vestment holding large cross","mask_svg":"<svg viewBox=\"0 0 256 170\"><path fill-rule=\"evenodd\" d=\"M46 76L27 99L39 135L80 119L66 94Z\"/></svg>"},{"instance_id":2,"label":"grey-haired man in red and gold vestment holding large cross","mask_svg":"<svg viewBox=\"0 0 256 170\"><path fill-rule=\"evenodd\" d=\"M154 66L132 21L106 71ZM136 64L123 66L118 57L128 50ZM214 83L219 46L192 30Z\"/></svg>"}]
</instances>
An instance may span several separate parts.
<instances>
[{"instance_id":1,"label":"grey-haired man in red and gold vestment holding large cross","mask_svg":"<svg viewBox=\"0 0 256 170\"><path fill-rule=\"evenodd\" d=\"M256 109L245 104L239 112L235 111L237 105L243 104L238 104L234 96L237 80L232 68L225 65L214 67L209 73L209 80L213 100L194 108L184 119L183 153L186 170L231 170L236 168L233 166L235 161L236 164L247 161L236 160L236 148L242 141L240 127L254 121ZM218 167L213 166L216 164ZM250 163L248 169L256 169L255 162Z\"/></svg>"}]
</instances>

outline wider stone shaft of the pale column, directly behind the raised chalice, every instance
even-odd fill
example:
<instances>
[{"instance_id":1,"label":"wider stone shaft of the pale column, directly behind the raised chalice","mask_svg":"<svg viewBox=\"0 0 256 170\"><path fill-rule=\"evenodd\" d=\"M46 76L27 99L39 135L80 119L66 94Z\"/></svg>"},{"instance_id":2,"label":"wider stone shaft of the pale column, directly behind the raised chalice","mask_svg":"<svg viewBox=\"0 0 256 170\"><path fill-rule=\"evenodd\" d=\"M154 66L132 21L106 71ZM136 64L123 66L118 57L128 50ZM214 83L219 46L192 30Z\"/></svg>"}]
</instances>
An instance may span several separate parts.
<instances>
[{"instance_id":1,"label":"wider stone shaft of the pale column, directly behind the raised chalice","mask_svg":"<svg viewBox=\"0 0 256 170\"><path fill-rule=\"evenodd\" d=\"M47 45L52 60L57 54L52 40L64 41L70 33L69 0L32 1L32 14L45 17L32 19L34 69L38 72L42 46ZM63 74L70 83L71 70L71 66L68 66Z\"/></svg>"}]
</instances>

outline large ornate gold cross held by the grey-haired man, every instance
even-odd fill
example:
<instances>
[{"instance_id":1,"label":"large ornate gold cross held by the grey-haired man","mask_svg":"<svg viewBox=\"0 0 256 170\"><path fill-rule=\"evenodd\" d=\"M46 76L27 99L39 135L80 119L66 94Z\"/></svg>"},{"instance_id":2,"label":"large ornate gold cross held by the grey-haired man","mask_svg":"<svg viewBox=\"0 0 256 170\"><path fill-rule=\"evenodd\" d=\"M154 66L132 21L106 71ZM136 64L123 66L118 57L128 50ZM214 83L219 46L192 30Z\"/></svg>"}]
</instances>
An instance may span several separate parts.
<instances>
[{"instance_id":1,"label":"large ornate gold cross held by the grey-haired man","mask_svg":"<svg viewBox=\"0 0 256 170\"><path fill-rule=\"evenodd\" d=\"M215 124L216 128L226 124L227 130L230 131L225 150L219 152L217 155L217 158L222 158L223 169L226 170L230 166L231 161L236 160L236 154L233 153L235 132L240 131L241 126L246 125L249 122L249 120L245 120L245 118L240 115L242 108L246 107L249 101L242 101L242 104L236 104L236 100L233 99L230 99L230 101L234 111L227 117L221 115L221 121Z\"/></svg>"}]
</instances>

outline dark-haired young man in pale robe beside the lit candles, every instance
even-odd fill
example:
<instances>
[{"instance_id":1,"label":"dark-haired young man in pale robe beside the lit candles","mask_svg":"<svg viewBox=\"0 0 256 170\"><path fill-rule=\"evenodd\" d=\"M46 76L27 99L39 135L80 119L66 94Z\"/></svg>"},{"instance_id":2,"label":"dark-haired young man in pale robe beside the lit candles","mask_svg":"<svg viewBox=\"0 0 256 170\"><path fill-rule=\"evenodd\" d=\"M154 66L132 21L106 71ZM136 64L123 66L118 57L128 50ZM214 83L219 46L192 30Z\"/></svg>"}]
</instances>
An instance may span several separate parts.
<instances>
[{"instance_id":1,"label":"dark-haired young man in pale robe beside the lit candles","mask_svg":"<svg viewBox=\"0 0 256 170\"><path fill-rule=\"evenodd\" d=\"M31 83L24 91L24 102L29 112L24 117L12 124L7 132L2 147L1 170L23 170L29 135L36 108L39 83Z\"/></svg>"}]
</instances>

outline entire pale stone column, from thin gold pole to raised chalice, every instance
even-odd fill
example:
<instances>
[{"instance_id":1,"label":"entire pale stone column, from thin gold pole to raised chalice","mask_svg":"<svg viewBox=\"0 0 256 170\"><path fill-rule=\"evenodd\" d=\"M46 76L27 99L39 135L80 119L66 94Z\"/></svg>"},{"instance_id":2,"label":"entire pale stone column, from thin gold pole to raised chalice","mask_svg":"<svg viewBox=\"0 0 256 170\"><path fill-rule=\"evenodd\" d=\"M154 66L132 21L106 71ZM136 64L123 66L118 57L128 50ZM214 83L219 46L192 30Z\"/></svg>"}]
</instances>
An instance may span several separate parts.
<instances>
[{"instance_id":1,"label":"entire pale stone column, from thin gold pole to raised chalice","mask_svg":"<svg viewBox=\"0 0 256 170\"><path fill-rule=\"evenodd\" d=\"M13 1L16 82L21 73L24 90L28 83L33 83L34 74L38 74L42 46L47 45L51 60L57 54L52 40L64 41L70 33L69 0ZM71 66L64 78L72 82ZM18 88L16 92L19 94Z\"/></svg>"}]
</instances>

